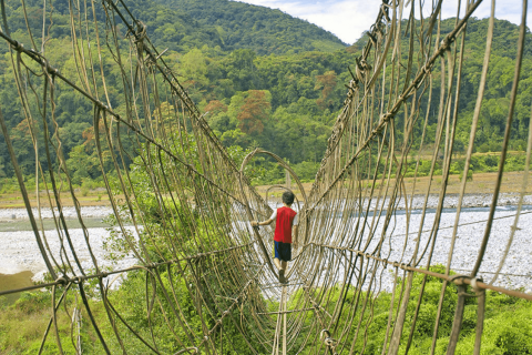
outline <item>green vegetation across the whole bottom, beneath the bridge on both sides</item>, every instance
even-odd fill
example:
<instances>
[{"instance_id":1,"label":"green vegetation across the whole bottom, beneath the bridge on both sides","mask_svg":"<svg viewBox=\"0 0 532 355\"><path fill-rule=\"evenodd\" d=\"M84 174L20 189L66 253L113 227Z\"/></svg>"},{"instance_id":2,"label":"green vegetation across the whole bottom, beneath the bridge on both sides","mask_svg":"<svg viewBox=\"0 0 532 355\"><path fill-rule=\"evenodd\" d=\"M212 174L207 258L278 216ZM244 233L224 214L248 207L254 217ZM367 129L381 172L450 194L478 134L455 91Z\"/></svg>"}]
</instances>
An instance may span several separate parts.
<instances>
[{"instance_id":1,"label":"green vegetation across the whole bottom, beneath the bridge on both sides","mask_svg":"<svg viewBox=\"0 0 532 355\"><path fill-rule=\"evenodd\" d=\"M215 261L217 267L227 267L231 270L231 264L224 264L222 260ZM207 265L204 265L207 266ZM178 277L178 270L185 270L184 276ZM170 267L161 266L157 272L161 275L161 280L167 290L174 287L177 302L181 305L182 321L187 323L187 327L196 333L202 332L202 322L198 313L196 312L196 297L197 292L202 293L202 297L205 300L205 307L203 308L203 316L208 328L212 328L222 314L216 311L215 304L222 306L223 310L227 308L231 301L224 298L212 300L207 287L215 287L217 281L211 280L215 277L211 273L205 273L202 277L202 282L196 287L191 287L194 284L194 272L203 270L201 265L194 263L182 262L180 264L173 264ZM204 268L204 270L208 270ZM442 266L431 267L434 272L442 272ZM161 287L153 288L152 278L146 276L146 272L136 271L129 273L126 278L122 278L119 288L109 291L109 301L113 307L121 314L123 320L135 329L143 338L152 339L149 324L154 326L154 337L157 342L160 351L165 353L175 352L176 348L182 348L183 344L176 341L175 335L170 331L173 328L176 335L184 344L188 344L187 337L180 325L180 320L173 316L173 311L165 298ZM146 278L147 277L147 278ZM147 288L146 288L147 280ZM172 283L172 284L171 284ZM416 304L423 283L423 275L417 274L412 282L412 290L409 297L409 304L407 308L405 331L401 337L401 347L399 353L405 353L409 331L412 324ZM398 285L401 284L399 280ZM438 302L440 298L442 281L432 276L428 276L424 284L424 293L422 297L422 304L419 310L419 314L416 323L416 331L413 333L412 345L409 354L427 354L430 352L432 343L432 332L434 326L436 314L438 310ZM96 284L85 284L85 290L98 287ZM331 290L329 296L328 312L332 314L335 306L340 302L340 286L338 285ZM400 288L400 287L399 287ZM202 291L203 290L203 291ZM222 291L211 288L214 294L219 294ZM161 303L156 302L150 316L150 321L146 317L146 293L152 297L153 292L157 295ZM57 291L57 298L61 296L62 288ZM98 293L90 292L93 296L90 300L91 311L100 326L108 346L114 354L120 352L120 344L116 342L112 326L109 323L108 315L103 303L95 297ZM400 290L397 290L393 302L393 314L396 314L399 303ZM289 300L288 308L290 305L295 307L304 298L304 292L296 292ZM392 295L387 292L381 292L377 296L375 294L368 294L362 292L358 297L358 307L355 316L344 312L339 318L338 329L342 329L342 326L350 322L351 318L358 323L360 320L360 313L362 306L368 302L366 311L361 317L362 326L359 329L357 341L355 342L354 349L360 352L365 348L366 354L380 354L382 352L382 345L388 324L388 316L390 312L390 302ZM299 300L299 301L298 301ZM457 290L453 285L448 285L442 304L441 321L438 332L436 354L443 355L447 352L447 345L449 342L449 334L451 331L454 308L457 305ZM99 354L102 352L101 345L92 329L89 322L88 314L80 303L80 297L76 288L74 287L66 296L69 310L72 310L74 305L81 306L83 325L82 325L82 348L85 354ZM278 308L278 304L273 302L268 303L265 300L255 300L254 302L264 302L266 310L275 311ZM346 295L346 305L357 302L356 293L351 290ZM223 305L221 305L223 303ZM13 305L0 305L0 352L9 354L32 354L39 346L42 338L42 329L48 324L51 307L51 293L50 292L32 292L23 293L21 297ZM207 311L209 308L209 311ZM165 315L163 314L166 314ZM211 313L209 313L211 312ZM243 307L244 316L250 316L248 310ZM310 325L315 321L313 313L307 314L306 322ZM370 322L369 322L370 321ZM170 322L170 324L168 324ZM121 334L121 338L127 348L127 353L131 354L145 354L147 348L143 345L132 332L130 332L120 321L117 321L117 328ZM229 354L253 354L248 348L248 345L244 341L237 326L246 326L247 323L239 325L238 322L233 322L229 317L224 320L224 333L223 342L224 349ZM70 341L70 317L64 312L58 312L58 325L60 336L62 341L63 351L66 354L73 354L73 345ZM477 298L466 298L466 307L463 314L462 328L460 332L460 338L457 346L456 354L472 354L475 337L477 325ZM297 346L303 345L306 338L306 332L315 332L315 327L304 328L296 341ZM250 329L244 329L247 334L253 334ZM354 326L349 334L345 338L349 339L349 343L354 339L356 333L356 326ZM219 333L213 334L219 339ZM389 339L389 338L388 338ZM249 338L252 346L259 351L263 348L258 339L253 336ZM316 343L317 342L317 343ZM310 337L306 347L301 354L311 353L313 346L319 344L319 339ZM50 353L57 353L57 344L53 333L49 334L48 341L44 347ZM485 304L485 321L484 332L482 336L482 352L481 354L504 354L504 355L520 355L532 353L532 303L524 300L507 296L497 292L487 292Z\"/></svg>"}]
</instances>

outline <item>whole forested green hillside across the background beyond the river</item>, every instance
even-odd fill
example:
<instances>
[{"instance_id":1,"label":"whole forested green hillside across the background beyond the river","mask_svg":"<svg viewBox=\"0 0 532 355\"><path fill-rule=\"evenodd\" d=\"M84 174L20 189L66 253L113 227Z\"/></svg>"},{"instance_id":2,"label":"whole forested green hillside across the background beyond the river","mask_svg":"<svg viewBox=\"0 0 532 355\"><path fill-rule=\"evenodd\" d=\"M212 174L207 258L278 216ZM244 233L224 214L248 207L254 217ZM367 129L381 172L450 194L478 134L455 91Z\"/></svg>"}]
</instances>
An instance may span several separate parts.
<instances>
[{"instance_id":1,"label":"whole forested green hillside across the background beyond the river","mask_svg":"<svg viewBox=\"0 0 532 355\"><path fill-rule=\"evenodd\" d=\"M24 45L33 47L31 40L18 31L25 27L20 2L9 0L6 3L8 23L14 23L10 28L11 36ZM29 24L34 33L40 33L42 11L39 7L42 2L32 0L27 3ZM206 112L206 120L224 145L241 151L262 146L288 160L305 180L313 179L345 99L345 84L351 78L348 65L355 65L368 40L366 36L346 48L332 34L308 22L278 10L234 1L141 0L129 4L146 24L147 34L156 48L160 51L168 49L164 54L166 61L201 111ZM53 22L47 19L53 39L47 41L45 55L53 67L82 84L74 61L69 59L72 53L69 2L58 0L53 7ZM96 12L96 18L100 17L103 19L103 12ZM449 31L453 22L452 19L443 21L441 32ZM125 33L120 19L116 23L116 28ZM500 150L513 77L518 27L508 21L497 21L495 24L487 97L477 135L479 151ZM102 33L109 30L109 26L103 21L101 23L102 41ZM463 151L469 139L468 118L472 114L479 85L487 27L487 20L474 19L468 26L458 152ZM39 51L40 38L33 40ZM408 43L402 47L405 59ZM31 174L34 171L34 152L13 82L11 54L3 41L0 42L0 54L1 109L14 138L19 162L24 173ZM112 53L104 51L103 55L105 61L113 62ZM113 108L121 112L125 109L120 72L109 68L105 74L109 97ZM434 68L436 73L438 70ZM531 71L532 53L526 47L513 121L513 134L522 140L516 140L512 150L524 149L532 101ZM438 75L434 78L432 95L438 98ZM74 183L100 179L91 104L81 95L61 88L57 88L55 100L60 103L54 112L61 126L58 133L64 142L64 154L70 158L69 169ZM428 134L434 134L437 113L430 113ZM397 116L397 123L402 126L401 115ZM419 122L417 130L420 132L421 129L422 122ZM257 183L273 182L283 176L267 161L259 162L258 168L263 170ZM0 135L0 178L11 178L12 174L3 136Z\"/></svg>"}]
</instances>

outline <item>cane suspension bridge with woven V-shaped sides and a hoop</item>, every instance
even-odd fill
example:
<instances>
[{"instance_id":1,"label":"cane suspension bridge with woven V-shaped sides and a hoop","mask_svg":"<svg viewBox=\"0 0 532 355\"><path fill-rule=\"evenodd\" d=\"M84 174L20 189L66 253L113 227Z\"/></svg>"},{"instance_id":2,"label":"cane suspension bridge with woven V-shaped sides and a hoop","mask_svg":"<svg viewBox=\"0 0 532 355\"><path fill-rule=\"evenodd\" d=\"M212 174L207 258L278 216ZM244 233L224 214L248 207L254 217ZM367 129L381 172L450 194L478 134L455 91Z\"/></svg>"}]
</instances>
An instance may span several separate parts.
<instances>
[{"instance_id":1,"label":"cane suspension bridge with woven V-shaped sides and a hoop","mask_svg":"<svg viewBox=\"0 0 532 355\"><path fill-rule=\"evenodd\" d=\"M432 320L431 352L436 348L446 291L451 287L452 292L458 292L458 301L453 305L454 318L447 352L454 353L466 298L475 297L474 353L480 354L485 291L532 300L530 294L497 286L518 230L532 140L529 139L526 146L518 213L512 217L513 227L505 236L508 247L500 257L494 277L482 281L479 271L491 236L503 179L502 163L499 164L489 217L482 221L482 235L471 267L463 274L451 274L456 262L453 256L459 248L457 231L468 184L468 179L462 179L444 268L431 271L434 245L439 243L442 229L440 216L449 184L454 132L460 120L468 120L471 124L463 168L463 176L468 176L495 17L492 1L474 114L462 118L458 108L467 24L481 1L459 1L453 28L444 34L441 32L442 2L383 0L376 4L380 7L379 14L367 32L369 40L361 55L349 68L351 79L346 83L347 97L307 196L291 169L272 153L257 149L241 166L231 159L170 69L164 53L150 41L142 19L132 14L126 1L69 2L71 60L75 63L75 71L69 77L47 59L47 27L42 33L33 33L27 26L24 38L29 42L22 43L10 32L4 0L1 0L0 38L2 45L9 47L20 110L31 126L35 176L48 191L44 199L53 206L57 225L57 234L51 235L41 229L40 214L31 210L0 103L0 124L11 163L37 244L53 280L28 287L52 291L53 307L48 328L42 329L42 343L53 338L62 352L61 344L65 339L57 329L57 320L62 316L58 310L69 294L75 293L80 296L79 306L90 320L85 326L92 328L102 353L112 353L113 348L122 353L166 353L153 337L153 332L150 337L143 329L132 327L113 306L109 281L119 274L142 272L146 286L145 300L140 302L146 305L146 327L154 326L151 315L155 312L161 312L166 320L177 320L178 329L171 328L170 323L163 324L168 325L168 334L173 334L178 344L172 354L235 352L223 348L227 324L238 331L233 336L241 336L253 354L297 354L303 351L307 354L359 354L365 352L368 329L374 322L372 300L382 291L382 280L389 275L392 296L388 317L382 323L386 332L381 353L397 354L400 346L406 352L411 346L423 288L419 296L416 295L417 301L411 301L411 290L415 275L422 275L423 284L428 276L442 280L439 307ZM501 162L504 162L511 141L526 34L526 4L524 0L519 39L508 44L516 48L516 58ZM45 22L51 3L44 0L42 7ZM96 11L102 10L103 20L96 17ZM24 18L28 20L25 12ZM112 55L102 55L103 52ZM109 68L121 72L125 104L120 110L111 104L105 77ZM438 95L433 94L437 85ZM94 141L117 233L126 252L136 257L135 266L110 272L102 268L101 261L92 253L91 233L83 224L79 192L69 175L62 148L64 138L55 115L57 106L61 104L55 101L55 92L64 89L73 90L93 108ZM437 116L432 140L426 134L429 115ZM416 124L422 126L421 138L415 136ZM532 125L529 128L532 130ZM398 135L398 132L402 134ZM419 152L412 149L415 140L420 141ZM39 144L45 145L44 155L39 155ZM417 174L422 149L423 152L431 150L430 183L421 194L418 192L422 201L417 207L421 217L412 217L416 186L407 185L403 178L412 164ZM273 230L269 226L253 229L248 223L265 220L272 213L270 206L244 173L247 163L257 154L269 154L277 160L296 181L301 196L298 201L300 246L289 267L287 283L278 282L272 263ZM127 158L136 155L142 158L140 169L149 181L142 186L132 180L126 163L131 162ZM437 162L441 171L438 172L439 179L432 179L437 175ZM430 193L438 194L438 203L436 217L429 221L426 214ZM143 203L145 195L152 196L156 204ZM74 201L84 235L81 247L91 254L90 268L82 266L78 257L80 246L74 247L64 220L62 201L66 197ZM405 212L401 227L396 221L398 211ZM161 216L157 223L151 220L153 214ZM392 239L396 229L402 229L401 239ZM60 240L59 253L49 247L52 237ZM392 251L399 251L399 254ZM202 320L201 326L187 323L186 305L174 287L175 280L185 280L186 293ZM88 300L85 290L94 281L94 290L106 312L105 322L113 329L111 334L100 331L103 325L99 322L103 321L96 321ZM412 303L415 318L407 322L407 307ZM278 308L272 311L268 304L278 304ZM74 320L72 317L72 322ZM124 341L126 334L129 339L135 339L135 347L132 342Z\"/></svg>"}]
</instances>

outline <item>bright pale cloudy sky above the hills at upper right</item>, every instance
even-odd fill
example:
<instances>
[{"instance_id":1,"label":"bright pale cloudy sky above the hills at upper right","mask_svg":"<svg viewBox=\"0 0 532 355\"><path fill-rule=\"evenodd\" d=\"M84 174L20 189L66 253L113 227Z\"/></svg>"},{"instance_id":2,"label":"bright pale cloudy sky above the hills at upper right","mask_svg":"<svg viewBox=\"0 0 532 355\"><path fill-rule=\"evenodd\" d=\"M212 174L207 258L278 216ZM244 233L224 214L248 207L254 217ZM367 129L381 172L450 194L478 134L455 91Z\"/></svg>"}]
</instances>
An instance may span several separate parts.
<instances>
[{"instance_id":1,"label":"bright pale cloudy sky above the hills at upper right","mask_svg":"<svg viewBox=\"0 0 532 355\"><path fill-rule=\"evenodd\" d=\"M344 42L351 44L374 24L380 4L380 0L238 0L279 9L293 17L307 20L320 28L332 32ZM415 0L406 0L410 3ZM423 0L424 7L431 8L432 0ZM464 13L464 2L462 0L461 14ZM415 1L416 11L419 9L419 0ZM458 0L446 0L442 6L443 18L457 16ZM532 21L532 4L526 11L528 20ZM410 11L410 10L409 10ZM479 19L488 18L491 12L491 1L483 0L474 12ZM509 20L515 24L521 23L522 1L520 0L499 0L495 4L495 18ZM417 16L418 18L418 16ZM529 23L529 28L531 24Z\"/></svg>"}]
</instances>

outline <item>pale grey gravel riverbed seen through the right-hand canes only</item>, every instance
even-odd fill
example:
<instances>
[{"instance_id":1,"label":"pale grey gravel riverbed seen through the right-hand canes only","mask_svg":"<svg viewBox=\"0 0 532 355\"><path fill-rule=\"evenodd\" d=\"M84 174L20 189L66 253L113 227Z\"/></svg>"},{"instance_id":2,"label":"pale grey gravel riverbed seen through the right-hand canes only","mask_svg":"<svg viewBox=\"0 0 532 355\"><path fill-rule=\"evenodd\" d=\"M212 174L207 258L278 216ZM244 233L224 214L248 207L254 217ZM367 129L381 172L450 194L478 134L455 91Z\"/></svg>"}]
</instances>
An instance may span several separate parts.
<instances>
[{"instance_id":1,"label":"pale grey gravel riverbed seen through the right-hand canes only","mask_svg":"<svg viewBox=\"0 0 532 355\"><path fill-rule=\"evenodd\" d=\"M438 236L433 244L431 265L447 265L448 263L456 215L456 212L444 212L441 214ZM457 230L457 240L451 263L451 270L454 272L468 275L473 268L479 255L488 215L489 209L469 209L468 211L460 213L460 222ZM429 239L434 216L434 213L426 215L422 227L423 233L421 233L419 242L420 252L418 254L418 257L420 255L423 256L420 261L418 258L418 267L426 266L428 255L432 248L432 241ZM530 231L532 230L532 213L530 210L520 215L518 229L513 235L508 254L504 257L505 250L509 246L511 230L515 219L514 216L514 207L501 207L495 212L479 276L481 276L487 283L493 282L493 285L495 286L521 290L532 294L532 237L530 234ZM411 263L421 217L421 214L411 215L409 237L406 242L406 215L396 215L389 227L389 231L393 231L392 236L387 240L382 246L381 255L385 258L405 264ZM381 229L381 224L382 223L380 223L379 229ZM377 235L380 235L379 231L377 232ZM371 241L368 251L372 251L377 246L377 240ZM365 242L362 241L362 245ZM423 251L427 252L423 254ZM494 280L494 274L501 265L501 262L502 268L500 275ZM390 267L389 271L391 270L392 268ZM382 287L390 292L393 281L391 272L385 272L381 280Z\"/></svg>"}]
</instances>

